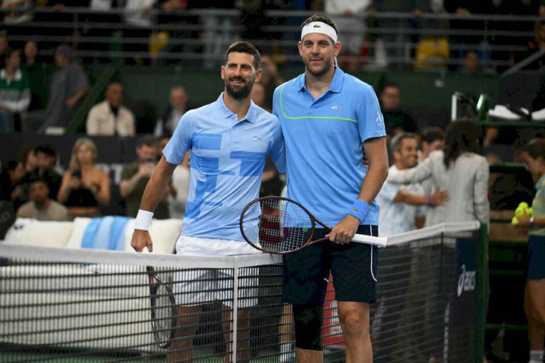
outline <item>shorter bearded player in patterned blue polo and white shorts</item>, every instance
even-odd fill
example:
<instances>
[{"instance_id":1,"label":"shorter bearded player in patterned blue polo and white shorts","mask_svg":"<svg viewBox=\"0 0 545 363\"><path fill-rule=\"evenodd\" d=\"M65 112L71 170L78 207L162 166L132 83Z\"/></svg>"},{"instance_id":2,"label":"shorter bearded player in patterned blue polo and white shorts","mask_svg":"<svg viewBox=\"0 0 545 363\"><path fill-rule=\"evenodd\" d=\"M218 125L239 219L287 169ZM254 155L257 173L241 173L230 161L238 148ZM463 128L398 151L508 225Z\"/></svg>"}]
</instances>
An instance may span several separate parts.
<instances>
[{"instance_id":1,"label":"shorter bearded player in patterned blue polo and white shorts","mask_svg":"<svg viewBox=\"0 0 545 363\"><path fill-rule=\"evenodd\" d=\"M259 52L250 43L232 44L226 52L225 65L221 67L221 78L225 81L223 93L215 102L187 112L178 122L142 196L131 242L135 250L142 251L147 247L152 251L148 229L153 211L173 170L190 151L190 189L183 229L176 243L177 254L234 256L261 253L244 241L239 227L240 213L246 204L259 196L267 154L272 156L282 173L285 156L278 119L250 99L254 82L261 78L259 60ZM183 301L177 302L180 318L174 337L187 339L173 340L168 361L191 361L192 336L196 333L198 313L205 302L220 300L229 305L231 292L226 281L219 282L222 278L226 280L227 276L223 275L228 273L210 270L201 276L196 276L195 272L191 276L183 273L175 276L175 281L182 282L175 283L173 290ZM243 280L243 285L257 284L257 279ZM221 288L217 286L219 283ZM239 290L246 293L244 291L251 293L252 289ZM247 301L249 305L255 304L257 297ZM239 309L239 324L247 321L244 310ZM241 331L245 332L244 329ZM241 354L237 357L243 361L241 355L249 353L250 349L239 348Z\"/></svg>"}]
</instances>

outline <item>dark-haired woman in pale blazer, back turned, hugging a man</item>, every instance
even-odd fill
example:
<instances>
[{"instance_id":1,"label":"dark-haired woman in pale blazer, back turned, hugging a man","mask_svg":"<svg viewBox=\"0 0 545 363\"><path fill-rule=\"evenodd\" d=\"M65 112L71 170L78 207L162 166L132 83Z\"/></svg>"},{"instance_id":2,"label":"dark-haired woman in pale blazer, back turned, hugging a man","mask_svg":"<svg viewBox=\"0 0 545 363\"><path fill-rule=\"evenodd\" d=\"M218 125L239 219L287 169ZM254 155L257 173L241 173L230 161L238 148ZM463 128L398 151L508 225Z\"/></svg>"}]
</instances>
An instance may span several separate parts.
<instances>
[{"instance_id":1,"label":"dark-haired woman in pale blazer, back turned, hugging a man","mask_svg":"<svg viewBox=\"0 0 545 363\"><path fill-rule=\"evenodd\" d=\"M431 178L449 199L428 213L426 226L479 220L488 224L488 163L477 154L482 130L471 121L455 121L447 128L444 150L433 151L412 169L390 170L387 181L409 184Z\"/></svg>"}]
</instances>

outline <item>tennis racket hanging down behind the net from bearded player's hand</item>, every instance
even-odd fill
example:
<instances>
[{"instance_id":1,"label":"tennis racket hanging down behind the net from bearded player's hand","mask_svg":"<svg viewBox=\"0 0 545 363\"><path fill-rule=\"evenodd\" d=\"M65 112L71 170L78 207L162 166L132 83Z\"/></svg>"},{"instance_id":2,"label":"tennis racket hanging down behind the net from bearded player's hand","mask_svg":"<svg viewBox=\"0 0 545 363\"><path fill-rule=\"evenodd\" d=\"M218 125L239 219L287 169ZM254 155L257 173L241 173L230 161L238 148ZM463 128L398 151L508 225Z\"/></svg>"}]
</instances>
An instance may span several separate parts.
<instances>
[{"instance_id":1,"label":"tennis racket hanging down behind the net from bearded player's hand","mask_svg":"<svg viewBox=\"0 0 545 363\"><path fill-rule=\"evenodd\" d=\"M176 326L176 302L170 286L165 284L152 266L146 266L148 272L152 329L155 342L160 348L168 348Z\"/></svg>"}]
</instances>

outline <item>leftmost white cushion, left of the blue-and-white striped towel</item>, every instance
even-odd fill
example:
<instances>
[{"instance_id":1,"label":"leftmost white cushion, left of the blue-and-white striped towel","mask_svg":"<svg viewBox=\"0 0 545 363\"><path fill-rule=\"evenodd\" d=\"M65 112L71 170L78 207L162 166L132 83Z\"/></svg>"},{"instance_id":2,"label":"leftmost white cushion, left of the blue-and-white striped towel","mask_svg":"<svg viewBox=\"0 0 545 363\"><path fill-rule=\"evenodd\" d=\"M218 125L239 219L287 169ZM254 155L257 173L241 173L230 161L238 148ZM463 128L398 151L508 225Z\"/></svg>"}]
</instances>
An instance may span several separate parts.
<instances>
[{"instance_id":1,"label":"leftmost white cushion, left of the blue-and-white striped towel","mask_svg":"<svg viewBox=\"0 0 545 363\"><path fill-rule=\"evenodd\" d=\"M40 247L64 247L72 233L72 222L18 219L8 232L6 243Z\"/></svg>"}]
</instances>

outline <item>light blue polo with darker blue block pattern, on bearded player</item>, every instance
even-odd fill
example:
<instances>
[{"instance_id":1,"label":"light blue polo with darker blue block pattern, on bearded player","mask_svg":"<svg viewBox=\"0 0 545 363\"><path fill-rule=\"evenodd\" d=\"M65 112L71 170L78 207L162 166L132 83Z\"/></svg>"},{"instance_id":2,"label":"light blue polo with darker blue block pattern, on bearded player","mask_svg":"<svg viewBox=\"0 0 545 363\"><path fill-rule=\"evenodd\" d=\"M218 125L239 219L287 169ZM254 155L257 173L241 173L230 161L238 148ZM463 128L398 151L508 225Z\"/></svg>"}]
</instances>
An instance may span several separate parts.
<instances>
[{"instance_id":1,"label":"light blue polo with darker blue block pattern, on bearded player","mask_svg":"<svg viewBox=\"0 0 545 363\"><path fill-rule=\"evenodd\" d=\"M191 178L185 207L184 236L244 241L240 213L258 198L267 153L285 172L284 143L276 116L250 102L245 118L223 102L185 113L163 150L179 164L191 150Z\"/></svg>"}]
</instances>

